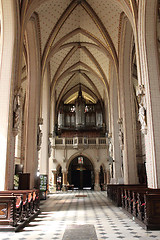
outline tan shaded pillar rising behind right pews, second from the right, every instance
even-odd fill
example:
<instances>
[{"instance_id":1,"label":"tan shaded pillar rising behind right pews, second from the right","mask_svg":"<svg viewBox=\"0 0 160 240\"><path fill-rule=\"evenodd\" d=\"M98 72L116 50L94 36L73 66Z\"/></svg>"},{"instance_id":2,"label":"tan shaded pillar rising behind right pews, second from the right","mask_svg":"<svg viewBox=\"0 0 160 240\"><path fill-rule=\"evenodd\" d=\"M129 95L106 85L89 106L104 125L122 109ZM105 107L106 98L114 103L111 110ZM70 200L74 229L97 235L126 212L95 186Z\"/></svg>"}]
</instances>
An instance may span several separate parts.
<instances>
[{"instance_id":1,"label":"tan shaded pillar rising behind right pews, second from the right","mask_svg":"<svg viewBox=\"0 0 160 240\"><path fill-rule=\"evenodd\" d=\"M132 27L126 17L122 19L122 32L120 40L120 103L121 103L121 129L119 134L123 140L123 169L124 183L137 184L137 162L135 144L135 105L133 97L133 83L131 79L131 48L132 48ZM123 135L123 137L122 137Z\"/></svg>"}]
</instances>

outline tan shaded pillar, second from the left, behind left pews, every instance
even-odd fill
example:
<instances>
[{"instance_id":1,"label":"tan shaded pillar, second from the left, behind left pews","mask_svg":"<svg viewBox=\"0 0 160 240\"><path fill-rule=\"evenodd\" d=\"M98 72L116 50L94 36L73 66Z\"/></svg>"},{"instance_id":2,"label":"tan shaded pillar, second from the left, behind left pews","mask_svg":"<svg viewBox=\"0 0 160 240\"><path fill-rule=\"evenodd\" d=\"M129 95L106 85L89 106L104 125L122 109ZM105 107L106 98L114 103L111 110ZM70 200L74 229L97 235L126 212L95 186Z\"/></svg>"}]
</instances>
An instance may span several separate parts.
<instances>
[{"instance_id":1,"label":"tan shaded pillar, second from the left, behind left pews","mask_svg":"<svg viewBox=\"0 0 160 240\"><path fill-rule=\"evenodd\" d=\"M26 27L28 86L26 91L24 172L30 173L30 188L35 186L38 169L37 127L40 103L40 55L34 21Z\"/></svg>"}]
</instances>

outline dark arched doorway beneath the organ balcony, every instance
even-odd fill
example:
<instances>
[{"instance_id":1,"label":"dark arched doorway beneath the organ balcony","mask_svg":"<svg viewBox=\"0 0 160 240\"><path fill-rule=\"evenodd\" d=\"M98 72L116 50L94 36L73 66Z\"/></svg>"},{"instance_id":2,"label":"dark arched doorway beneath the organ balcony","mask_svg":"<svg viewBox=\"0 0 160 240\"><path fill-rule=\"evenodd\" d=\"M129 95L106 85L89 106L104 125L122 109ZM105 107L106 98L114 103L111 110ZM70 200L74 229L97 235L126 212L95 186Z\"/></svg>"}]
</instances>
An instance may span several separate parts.
<instances>
[{"instance_id":1,"label":"dark arched doorway beneath the organ balcony","mask_svg":"<svg viewBox=\"0 0 160 240\"><path fill-rule=\"evenodd\" d=\"M74 189L94 189L94 168L85 156L74 158L68 168L68 183Z\"/></svg>"}]
</instances>

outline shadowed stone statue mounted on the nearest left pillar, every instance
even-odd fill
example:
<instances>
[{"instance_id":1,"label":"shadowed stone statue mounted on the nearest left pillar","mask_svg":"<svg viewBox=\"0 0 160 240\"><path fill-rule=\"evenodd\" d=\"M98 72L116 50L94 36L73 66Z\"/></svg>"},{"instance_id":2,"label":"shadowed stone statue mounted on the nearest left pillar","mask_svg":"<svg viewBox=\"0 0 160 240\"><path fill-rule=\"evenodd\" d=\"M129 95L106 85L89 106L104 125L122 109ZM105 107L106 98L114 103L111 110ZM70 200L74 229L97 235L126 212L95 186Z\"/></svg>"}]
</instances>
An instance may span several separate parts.
<instances>
[{"instance_id":1,"label":"shadowed stone statue mounted on the nearest left pillar","mask_svg":"<svg viewBox=\"0 0 160 240\"><path fill-rule=\"evenodd\" d=\"M16 136L19 132L20 122L22 120L22 88L15 91L13 100L13 133Z\"/></svg>"}]
</instances>

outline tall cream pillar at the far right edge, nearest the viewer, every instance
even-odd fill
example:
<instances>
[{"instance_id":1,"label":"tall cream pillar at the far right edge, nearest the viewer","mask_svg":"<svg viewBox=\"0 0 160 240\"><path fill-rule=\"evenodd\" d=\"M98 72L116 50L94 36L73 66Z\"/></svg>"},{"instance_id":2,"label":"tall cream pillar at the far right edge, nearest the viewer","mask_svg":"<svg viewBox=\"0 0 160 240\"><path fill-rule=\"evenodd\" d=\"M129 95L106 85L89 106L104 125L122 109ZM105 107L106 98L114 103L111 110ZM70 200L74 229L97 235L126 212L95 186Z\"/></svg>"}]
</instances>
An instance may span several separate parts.
<instances>
[{"instance_id":1,"label":"tall cream pillar at the far right edge, nearest the viewer","mask_svg":"<svg viewBox=\"0 0 160 240\"><path fill-rule=\"evenodd\" d=\"M157 0L140 1L139 46L142 79L146 99L147 132L145 133L148 187L160 188L160 68L157 48Z\"/></svg>"}]
</instances>

